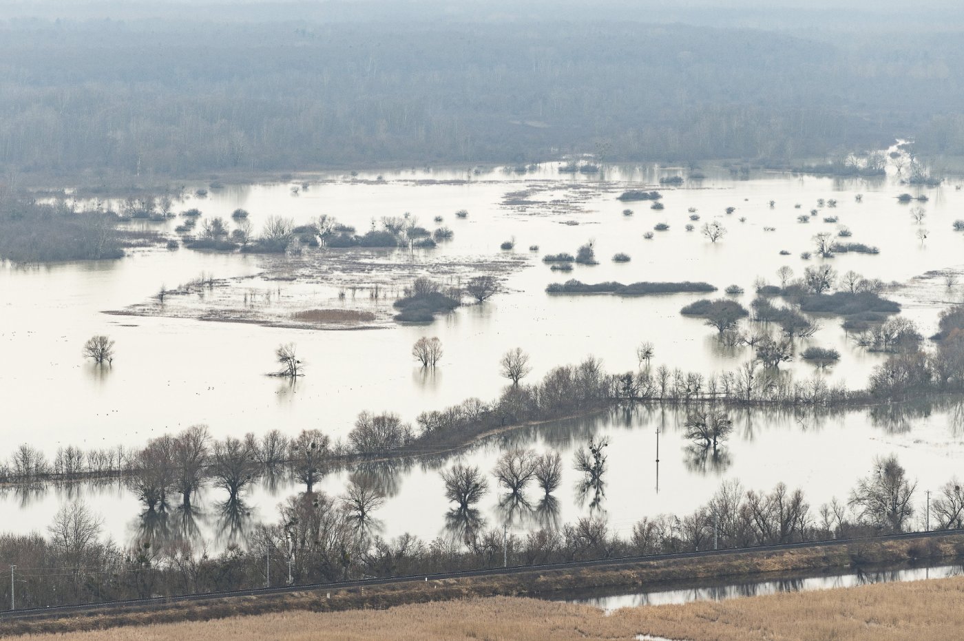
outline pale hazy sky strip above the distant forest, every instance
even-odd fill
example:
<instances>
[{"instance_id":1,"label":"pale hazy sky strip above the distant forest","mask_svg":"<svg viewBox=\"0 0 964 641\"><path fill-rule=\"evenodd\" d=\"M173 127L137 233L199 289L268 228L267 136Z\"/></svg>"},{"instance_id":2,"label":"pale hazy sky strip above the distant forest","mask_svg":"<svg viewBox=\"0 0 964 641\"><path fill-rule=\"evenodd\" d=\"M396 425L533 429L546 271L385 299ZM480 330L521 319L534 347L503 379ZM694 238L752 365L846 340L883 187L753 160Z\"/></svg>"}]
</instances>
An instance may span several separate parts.
<instances>
[{"instance_id":1,"label":"pale hazy sky strip above the distant forest","mask_svg":"<svg viewBox=\"0 0 964 641\"><path fill-rule=\"evenodd\" d=\"M541 20L615 19L773 29L947 29L961 23L960 0L0 0L0 18L152 17L196 20Z\"/></svg>"}]
</instances>

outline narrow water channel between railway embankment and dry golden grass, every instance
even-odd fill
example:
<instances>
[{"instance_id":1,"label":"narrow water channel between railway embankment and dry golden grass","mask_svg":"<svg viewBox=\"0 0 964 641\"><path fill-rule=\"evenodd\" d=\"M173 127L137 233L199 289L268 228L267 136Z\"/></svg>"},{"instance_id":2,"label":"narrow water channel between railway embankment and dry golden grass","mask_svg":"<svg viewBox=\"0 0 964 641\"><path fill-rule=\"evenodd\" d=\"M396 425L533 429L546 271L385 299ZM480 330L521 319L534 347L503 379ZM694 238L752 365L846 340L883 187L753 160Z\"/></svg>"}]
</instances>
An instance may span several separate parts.
<instances>
[{"instance_id":1,"label":"narrow water channel between railway embankment and dry golden grass","mask_svg":"<svg viewBox=\"0 0 964 641\"><path fill-rule=\"evenodd\" d=\"M867 570L848 574L833 574L830 576L777 579L681 590L610 594L606 596L574 599L572 602L594 605L602 608L606 612L612 612L621 607L636 607L639 605L668 605L693 601L724 601L728 599L741 599L743 597L763 597L764 595L777 594L780 592L812 592L814 590L850 588L875 583L924 581L932 578L960 576L961 574L964 574L964 569L960 566L905 568L902 570Z\"/></svg>"}]
</instances>

